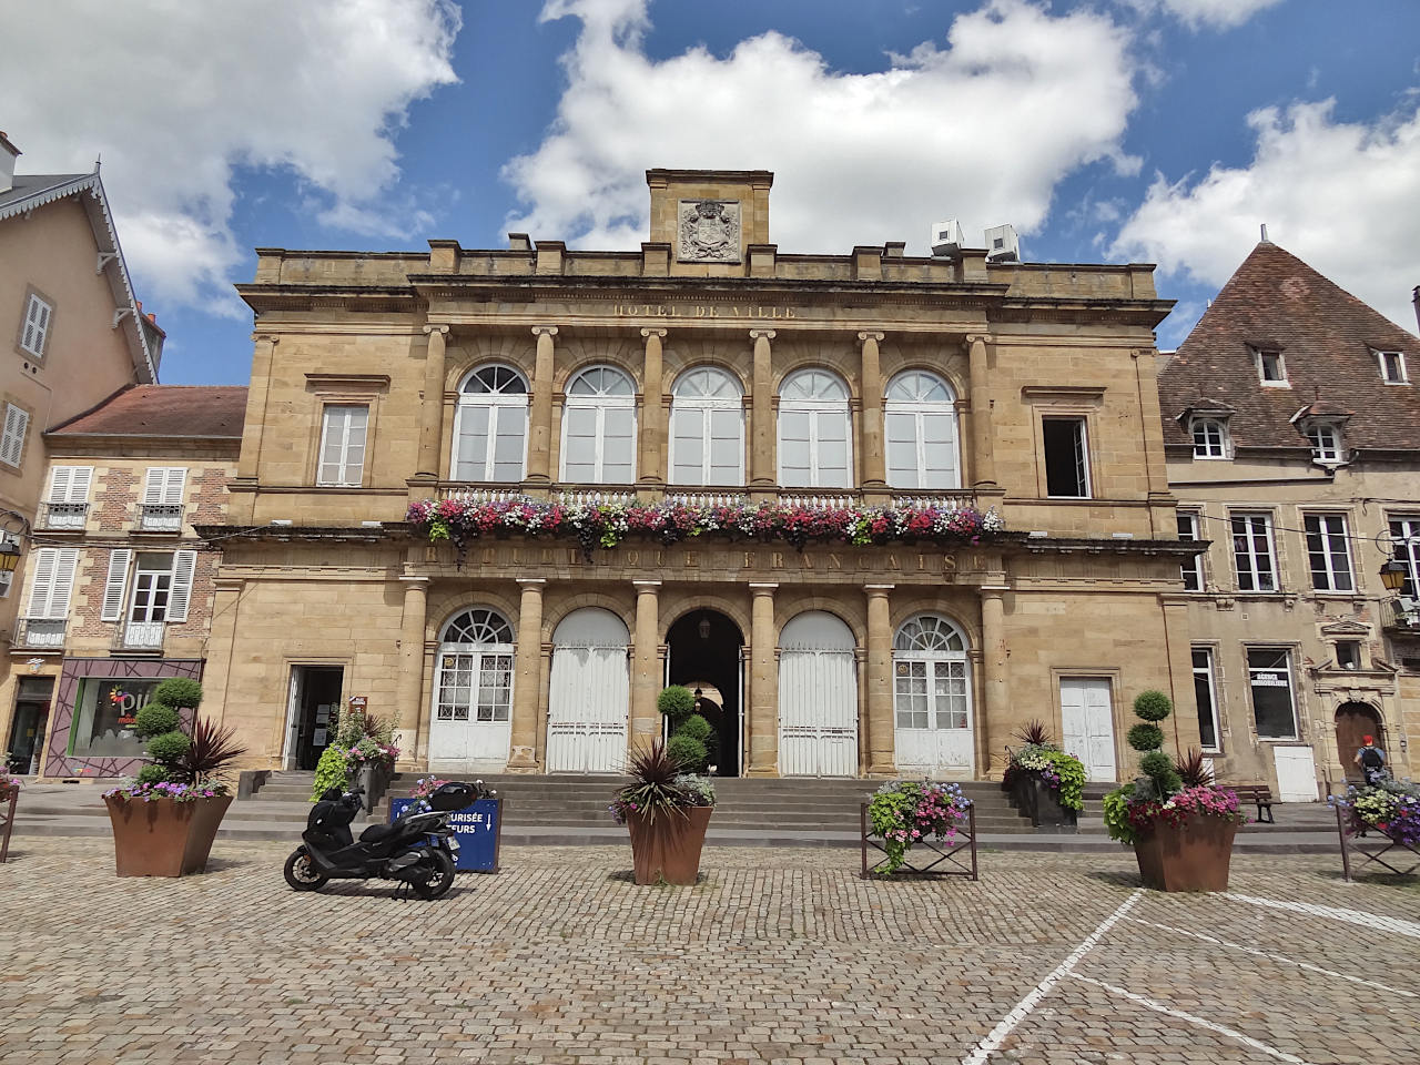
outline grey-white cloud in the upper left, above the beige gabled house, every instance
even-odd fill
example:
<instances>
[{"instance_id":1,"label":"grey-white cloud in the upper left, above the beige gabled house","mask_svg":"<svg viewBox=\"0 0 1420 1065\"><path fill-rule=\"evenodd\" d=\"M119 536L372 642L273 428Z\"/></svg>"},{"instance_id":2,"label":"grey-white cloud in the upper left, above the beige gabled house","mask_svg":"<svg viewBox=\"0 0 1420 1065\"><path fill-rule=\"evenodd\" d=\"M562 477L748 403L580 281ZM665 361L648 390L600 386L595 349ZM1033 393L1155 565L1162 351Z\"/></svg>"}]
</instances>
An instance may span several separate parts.
<instances>
[{"instance_id":1,"label":"grey-white cloud in the upper left, above the beige gabled house","mask_svg":"<svg viewBox=\"0 0 1420 1065\"><path fill-rule=\"evenodd\" d=\"M149 305L230 312L236 168L288 169L322 222L369 233L399 176L392 133L456 81L457 31L450 0L16 4L0 99L21 173L89 170L102 152Z\"/></svg>"}]
</instances>

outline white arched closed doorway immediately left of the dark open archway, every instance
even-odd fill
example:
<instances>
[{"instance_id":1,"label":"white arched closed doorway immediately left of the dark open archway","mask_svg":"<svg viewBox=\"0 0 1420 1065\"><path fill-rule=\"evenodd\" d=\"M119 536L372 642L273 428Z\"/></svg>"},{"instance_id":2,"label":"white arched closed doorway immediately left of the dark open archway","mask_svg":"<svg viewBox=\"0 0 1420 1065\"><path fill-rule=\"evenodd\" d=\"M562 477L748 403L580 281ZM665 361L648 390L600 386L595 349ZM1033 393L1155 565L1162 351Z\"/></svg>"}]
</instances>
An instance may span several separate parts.
<instances>
[{"instance_id":1,"label":"white arched closed doorway immediately left of the dark open archway","mask_svg":"<svg viewBox=\"0 0 1420 1065\"><path fill-rule=\"evenodd\" d=\"M630 633L611 611L584 606L552 632L548 772L621 772L626 765Z\"/></svg>"}]
</instances>

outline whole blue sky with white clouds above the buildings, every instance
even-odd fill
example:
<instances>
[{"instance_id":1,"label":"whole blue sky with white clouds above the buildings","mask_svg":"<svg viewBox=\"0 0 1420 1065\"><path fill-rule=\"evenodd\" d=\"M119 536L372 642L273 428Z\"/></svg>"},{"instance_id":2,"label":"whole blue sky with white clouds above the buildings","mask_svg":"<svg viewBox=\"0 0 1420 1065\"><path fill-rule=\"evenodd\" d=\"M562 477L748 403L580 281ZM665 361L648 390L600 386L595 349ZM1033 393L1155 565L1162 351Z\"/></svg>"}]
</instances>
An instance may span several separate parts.
<instances>
[{"instance_id":1,"label":"whole blue sky with white clouds above the buildings","mask_svg":"<svg viewBox=\"0 0 1420 1065\"><path fill-rule=\"evenodd\" d=\"M1011 222L1156 261L1174 346L1271 239L1416 329L1414 0L50 0L20 172L104 158L166 383L244 383L253 247L643 239L652 166L775 170L784 251ZM75 40L78 38L78 40ZM75 47L78 45L78 47Z\"/></svg>"}]
</instances>

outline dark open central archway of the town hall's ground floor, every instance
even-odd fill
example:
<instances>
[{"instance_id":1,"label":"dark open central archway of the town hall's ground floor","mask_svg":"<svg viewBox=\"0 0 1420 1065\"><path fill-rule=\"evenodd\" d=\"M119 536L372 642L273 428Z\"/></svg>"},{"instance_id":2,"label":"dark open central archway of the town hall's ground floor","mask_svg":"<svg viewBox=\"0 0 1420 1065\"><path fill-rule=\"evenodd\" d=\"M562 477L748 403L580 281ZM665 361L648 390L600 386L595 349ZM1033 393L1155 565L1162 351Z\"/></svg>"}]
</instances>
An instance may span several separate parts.
<instances>
[{"instance_id":1,"label":"dark open central archway of the town hall's ground floor","mask_svg":"<svg viewBox=\"0 0 1420 1065\"><path fill-rule=\"evenodd\" d=\"M719 611L692 611L666 633L670 660L667 682L700 690L700 713L716 728L717 750L710 763L717 777L738 777L743 736L740 626Z\"/></svg>"}]
</instances>

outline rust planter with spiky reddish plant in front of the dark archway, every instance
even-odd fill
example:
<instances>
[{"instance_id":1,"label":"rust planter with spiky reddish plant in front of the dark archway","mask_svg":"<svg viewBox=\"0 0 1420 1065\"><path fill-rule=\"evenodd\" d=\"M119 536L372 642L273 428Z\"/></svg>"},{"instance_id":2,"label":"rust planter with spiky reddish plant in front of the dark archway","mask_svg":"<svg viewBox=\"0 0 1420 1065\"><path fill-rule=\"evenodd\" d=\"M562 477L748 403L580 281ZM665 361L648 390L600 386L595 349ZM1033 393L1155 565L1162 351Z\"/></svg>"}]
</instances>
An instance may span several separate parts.
<instances>
[{"instance_id":1,"label":"rust planter with spiky reddish plant in front of the dark archway","mask_svg":"<svg viewBox=\"0 0 1420 1065\"><path fill-rule=\"evenodd\" d=\"M630 781L608 809L630 832L636 883L694 883L714 812L714 784L687 774L659 740L632 754Z\"/></svg>"}]
</instances>

